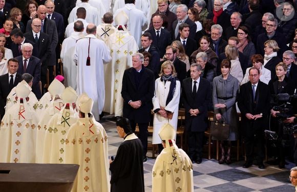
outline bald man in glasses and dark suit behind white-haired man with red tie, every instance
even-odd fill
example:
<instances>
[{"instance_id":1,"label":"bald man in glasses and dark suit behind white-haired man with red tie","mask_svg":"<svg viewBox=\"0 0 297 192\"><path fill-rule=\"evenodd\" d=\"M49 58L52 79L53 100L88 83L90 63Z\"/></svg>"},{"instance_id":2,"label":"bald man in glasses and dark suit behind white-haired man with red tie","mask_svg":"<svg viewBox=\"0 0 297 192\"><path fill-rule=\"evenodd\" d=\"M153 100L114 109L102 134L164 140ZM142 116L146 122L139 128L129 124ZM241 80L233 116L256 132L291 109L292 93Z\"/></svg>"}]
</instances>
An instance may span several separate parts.
<instances>
[{"instance_id":1,"label":"bald man in glasses and dark suit behind white-haired man with red tie","mask_svg":"<svg viewBox=\"0 0 297 192\"><path fill-rule=\"evenodd\" d=\"M47 69L48 69L48 60L51 55L50 47L50 37L41 32L41 20L39 18L34 18L32 21L32 31L25 33L24 36L26 39L35 41L35 44L38 50L38 58L41 60L41 82L43 85L47 82Z\"/></svg>"}]
</instances>

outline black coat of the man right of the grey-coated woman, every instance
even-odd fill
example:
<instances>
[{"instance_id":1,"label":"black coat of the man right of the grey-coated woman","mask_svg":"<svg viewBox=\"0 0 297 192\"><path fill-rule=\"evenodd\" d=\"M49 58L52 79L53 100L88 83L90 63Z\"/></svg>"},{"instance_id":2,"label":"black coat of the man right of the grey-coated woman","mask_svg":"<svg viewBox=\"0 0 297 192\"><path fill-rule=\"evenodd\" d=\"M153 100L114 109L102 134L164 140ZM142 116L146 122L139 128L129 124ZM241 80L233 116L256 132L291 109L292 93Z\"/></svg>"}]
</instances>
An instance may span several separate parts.
<instances>
[{"instance_id":1,"label":"black coat of the man right of the grey-coated woman","mask_svg":"<svg viewBox=\"0 0 297 192\"><path fill-rule=\"evenodd\" d=\"M256 90L255 102L252 100L251 82L248 81L240 87L238 95L238 107L241 112L243 133L245 138L251 138L254 134L263 135L267 128L267 120L270 114L270 92L267 84L259 81ZM246 114L263 114L262 118L249 120Z\"/></svg>"}]
</instances>

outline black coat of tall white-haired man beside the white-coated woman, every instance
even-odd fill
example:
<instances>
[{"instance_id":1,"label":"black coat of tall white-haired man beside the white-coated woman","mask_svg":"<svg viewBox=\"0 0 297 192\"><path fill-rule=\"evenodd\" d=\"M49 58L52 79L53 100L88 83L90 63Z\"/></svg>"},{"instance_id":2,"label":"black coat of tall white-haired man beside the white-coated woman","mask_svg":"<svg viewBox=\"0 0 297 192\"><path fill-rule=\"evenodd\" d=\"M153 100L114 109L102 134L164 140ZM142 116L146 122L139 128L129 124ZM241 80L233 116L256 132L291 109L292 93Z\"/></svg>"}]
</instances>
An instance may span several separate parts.
<instances>
[{"instance_id":1,"label":"black coat of tall white-haired man beside the white-coated woman","mask_svg":"<svg viewBox=\"0 0 297 192\"><path fill-rule=\"evenodd\" d=\"M142 66L141 80L137 88L134 68L124 71L121 95L124 99L123 117L134 120L137 123L148 123L151 120L152 98L155 90L154 73ZM129 101L141 101L138 109L132 108Z\"/></svg>"}]
</instances>

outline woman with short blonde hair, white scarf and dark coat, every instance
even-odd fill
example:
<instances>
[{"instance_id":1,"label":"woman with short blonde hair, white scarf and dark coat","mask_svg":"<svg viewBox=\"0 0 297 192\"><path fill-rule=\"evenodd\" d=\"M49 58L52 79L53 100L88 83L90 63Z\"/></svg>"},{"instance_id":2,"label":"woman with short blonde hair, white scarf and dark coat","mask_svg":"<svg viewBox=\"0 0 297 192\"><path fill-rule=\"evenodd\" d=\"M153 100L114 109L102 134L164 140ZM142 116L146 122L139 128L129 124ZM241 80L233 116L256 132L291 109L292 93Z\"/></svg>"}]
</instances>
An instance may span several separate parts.
<instances>
[{"instance_id":1,"label":"woman with short blonde hair, white scarf and dark coat","mask_svg":"<svg viewBox=\"0 0 297 192\"><path fill-rule=\"evenodd\" d=\"M277 41L275 40L266 40L264 42L264 64L263 66L270 70L271 72L271 79L275 78L275 66L279 62L281 62L281 59L278 57L278 51L280 50L279 45Z\"/></svg>"}]
</instances>

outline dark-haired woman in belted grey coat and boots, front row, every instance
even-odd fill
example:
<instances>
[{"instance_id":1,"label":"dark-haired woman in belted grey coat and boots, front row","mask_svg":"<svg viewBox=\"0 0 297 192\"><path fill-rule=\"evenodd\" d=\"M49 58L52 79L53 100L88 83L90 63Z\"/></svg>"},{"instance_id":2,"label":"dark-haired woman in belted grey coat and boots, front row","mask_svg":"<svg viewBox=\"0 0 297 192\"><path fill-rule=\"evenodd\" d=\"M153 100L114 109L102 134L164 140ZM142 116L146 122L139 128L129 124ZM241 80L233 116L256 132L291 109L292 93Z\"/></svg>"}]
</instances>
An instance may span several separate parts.
<instances>
[{"instance_id":1,"label":"dark-haired woman in belted grey coat and boots, front row","mask_svg":"<svg viewBox=\"0 0 297 192\"><path fill-rule=\"evenodd\" d=\"M221 141L220 149L222 157L219 163L230 164L231 141L237 140L238 134L238 117L236 112L236 95L239 88L237 78L229 74L231 62L224 59L221 63L222 75L217 76L213 80L213 103L215 118L224 120L230 124L229 138L227 139L227 155L225 153L225 141ZM216 138L213 138L216 139ZM225 156L226 155L226 156Z\"/></svg>"}]
</instances>

